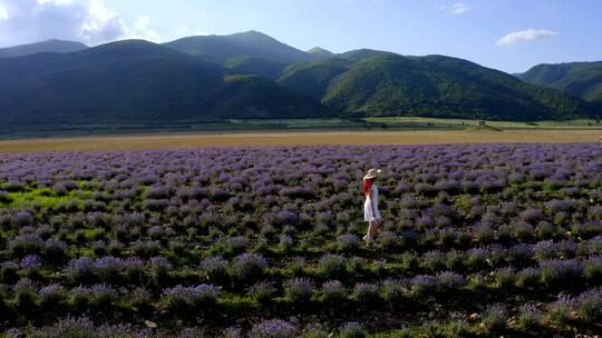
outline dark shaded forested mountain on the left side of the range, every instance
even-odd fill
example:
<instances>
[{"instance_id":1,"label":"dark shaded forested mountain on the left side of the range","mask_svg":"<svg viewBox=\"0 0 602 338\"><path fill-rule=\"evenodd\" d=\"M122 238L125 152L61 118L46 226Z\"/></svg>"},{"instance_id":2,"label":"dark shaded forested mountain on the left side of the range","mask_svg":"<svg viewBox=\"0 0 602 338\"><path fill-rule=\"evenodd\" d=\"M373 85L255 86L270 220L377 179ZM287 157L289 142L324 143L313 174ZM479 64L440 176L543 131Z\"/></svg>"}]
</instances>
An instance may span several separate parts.
<instances>
[{"instance_id":1,"label":"dark shaded forested mountain on the left side of the range","mask_svg":"<svg viewBox=\"0 0 602 338\"><path fill-rule=\"evenodd\" d=\"M227 72L140 40L0 59L0 118L18 125L328 113L269 79L227 81Z\"/></svg>"}]
</instances>

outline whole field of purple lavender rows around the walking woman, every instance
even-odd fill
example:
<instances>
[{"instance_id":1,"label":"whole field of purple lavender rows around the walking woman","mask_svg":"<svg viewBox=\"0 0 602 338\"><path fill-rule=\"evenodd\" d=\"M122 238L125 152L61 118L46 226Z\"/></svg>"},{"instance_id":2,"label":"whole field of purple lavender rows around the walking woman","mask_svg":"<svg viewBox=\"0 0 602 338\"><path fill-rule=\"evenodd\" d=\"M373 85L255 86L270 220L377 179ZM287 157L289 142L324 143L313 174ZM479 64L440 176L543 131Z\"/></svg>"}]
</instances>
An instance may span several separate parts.
<instances>
[{"instance_id":1,"label":"whole field of purple lavender rows around the walking woman","mask_svg":"<svg viewBox=\"0 0 602 338\"><path fill-rule=\"evenodd\" d=\"M601 202L596 143L0 155L0 335L593 336Z\"/></svg>"}]
</instances>

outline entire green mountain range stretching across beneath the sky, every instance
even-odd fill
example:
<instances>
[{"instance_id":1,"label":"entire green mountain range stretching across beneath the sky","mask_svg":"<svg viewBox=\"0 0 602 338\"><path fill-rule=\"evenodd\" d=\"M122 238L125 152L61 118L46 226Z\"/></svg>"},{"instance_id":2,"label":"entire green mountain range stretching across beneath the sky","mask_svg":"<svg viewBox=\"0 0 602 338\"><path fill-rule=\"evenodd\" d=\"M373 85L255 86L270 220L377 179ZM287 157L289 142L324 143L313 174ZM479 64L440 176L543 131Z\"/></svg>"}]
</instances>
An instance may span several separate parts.
<instances>
[{"instance_id":1,"label":"entire green mountain range stretching across beneath the sky","mask_svg":"<svg viewBox=\"0 0 602 338\"><path fill-rule=\"evenodd\" d=\"M511 76L445 56L369 49L305 52L256 31L163 44L125 40L94 48L50 40L0 49L0 118L6 125L72 125L362 116L598 117L600 69L540 66Z\"/></svg>"}]
</instances>

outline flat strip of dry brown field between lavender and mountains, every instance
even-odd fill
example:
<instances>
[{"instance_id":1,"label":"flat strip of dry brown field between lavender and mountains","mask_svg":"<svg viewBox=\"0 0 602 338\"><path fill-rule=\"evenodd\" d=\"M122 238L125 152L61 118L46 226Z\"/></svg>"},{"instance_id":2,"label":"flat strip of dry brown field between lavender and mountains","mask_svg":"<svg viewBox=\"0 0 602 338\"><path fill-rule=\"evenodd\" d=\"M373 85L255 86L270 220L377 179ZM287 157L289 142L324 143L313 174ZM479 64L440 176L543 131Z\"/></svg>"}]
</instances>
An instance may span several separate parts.
<instances>
[{"instance_id":1,"label":"flat strip of dry brown field between lavender and mountains","mask_svg":"<svg viewBox=\"0 0 602 338\"><path fill-rule=\"evenodd\" d=\"M596 130L308 131L148 135L0 141L0 152L85 151L197 147L428 145L484 142L596 142Z\"/></svg>"}]
</instances>

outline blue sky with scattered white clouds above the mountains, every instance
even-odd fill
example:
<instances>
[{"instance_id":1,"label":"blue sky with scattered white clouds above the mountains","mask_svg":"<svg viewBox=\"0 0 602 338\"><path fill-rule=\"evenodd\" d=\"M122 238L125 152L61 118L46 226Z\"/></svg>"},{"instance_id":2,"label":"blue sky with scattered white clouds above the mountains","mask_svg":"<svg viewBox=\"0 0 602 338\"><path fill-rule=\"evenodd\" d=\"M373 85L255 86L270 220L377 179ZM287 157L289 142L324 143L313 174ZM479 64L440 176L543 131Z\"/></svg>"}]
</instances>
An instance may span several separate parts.
<instances>
[{"instance_id":1,"label":"blue sky with scattered white clouds above the mountains","mask_svg":"<svg viewBox=\"0 0 602 338\"><path fill-rule=\"evenodd\" d=\"M601 0L0 0L0 46L258 30L307 50L447 54L508 72L602 60Z\"/></svg>"}]
</instances>

